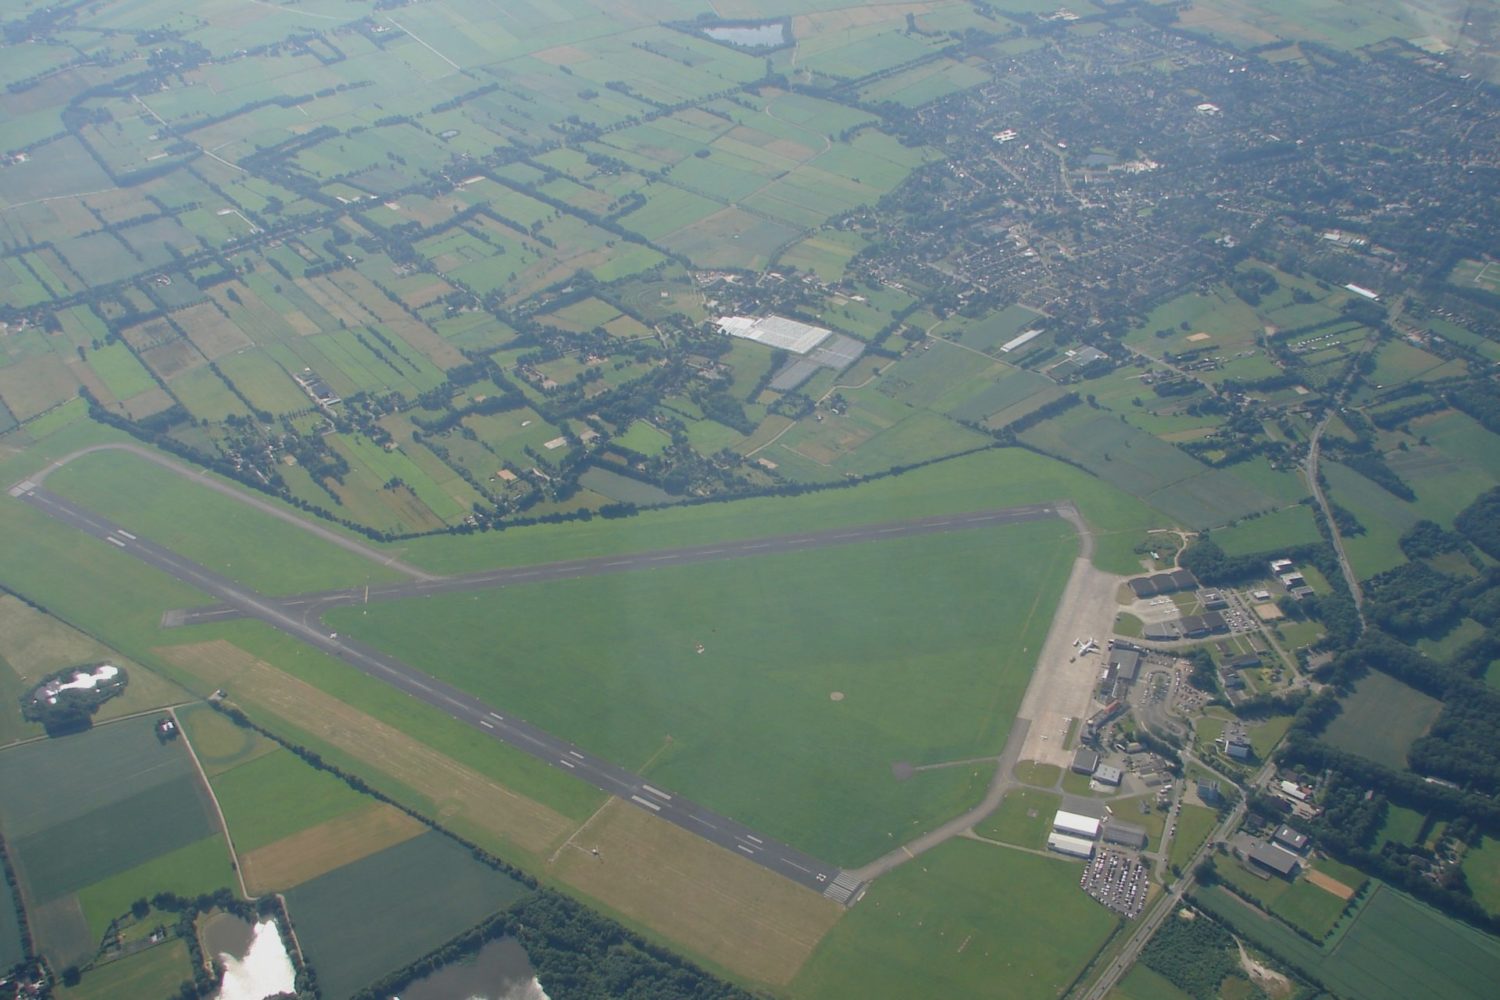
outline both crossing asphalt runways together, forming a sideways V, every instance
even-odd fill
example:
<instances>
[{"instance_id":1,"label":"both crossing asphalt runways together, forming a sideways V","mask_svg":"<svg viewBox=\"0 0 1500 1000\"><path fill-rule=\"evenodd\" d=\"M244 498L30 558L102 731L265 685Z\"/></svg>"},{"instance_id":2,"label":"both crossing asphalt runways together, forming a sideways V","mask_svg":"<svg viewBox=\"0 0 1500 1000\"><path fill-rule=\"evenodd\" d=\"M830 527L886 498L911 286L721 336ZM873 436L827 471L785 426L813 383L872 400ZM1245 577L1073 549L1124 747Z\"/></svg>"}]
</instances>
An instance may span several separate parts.
<instances>
[{"instance_id":1,"label":"both crossing asphalt runways together, forming a sideways V","mask_svg":"<svg viewBox=\"0 0 1500 1000\"><path fill-rule=\"evenodd\" d=\"M560 739L525 720L507 715L498 711L498 706L486 705L480 699L444 684L394 657L363 643L340 639L336 633L326 630L321 622L322 612L336 604L362 600L399 600L604 573L630 573L712 559L747 558L810 547L962 531L982 525L1012 523L1054 516L1054 510L1046 505L1014 507L969 514L922 517L886 525L834 528L772 538L687 546L636 555L596 556L532 567L486 570L466 576L387 583L369 588L368 592L364 588L350 588L273 598L242 586L148 538L132 534L124 526L58 496L34 481L18 483L10 489L10 495L219 601L219 604L212 607L168 612L164 616L164 624L188 625L232 618L255 618L262 621L309 646L338 657L368 676L390 684L411 697L447 712L452 718L471 726L492 739L520 750L554 768L567 771L608 795L618 796L636 808L646 810L669 823L735 852L762 868L807 886L814 892L820 892L842 904L856 901L864 888L864 883L852 873L819 861L789 844L762 837L744 823L714 813L666 789L658 789L640 778L640 775L612 762L590 756L574 744Z\"/></svg>"}]
</instances>

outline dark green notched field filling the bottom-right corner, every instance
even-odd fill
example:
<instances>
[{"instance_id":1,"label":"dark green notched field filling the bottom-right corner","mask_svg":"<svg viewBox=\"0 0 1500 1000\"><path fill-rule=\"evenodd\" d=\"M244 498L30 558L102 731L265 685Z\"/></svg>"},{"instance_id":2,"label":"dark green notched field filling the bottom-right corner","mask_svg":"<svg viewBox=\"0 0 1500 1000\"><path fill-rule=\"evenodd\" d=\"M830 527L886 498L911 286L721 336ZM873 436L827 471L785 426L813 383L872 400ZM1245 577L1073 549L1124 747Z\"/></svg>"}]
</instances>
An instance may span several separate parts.
<instances>
[{"instance_id":1,"label":"dark green notched field filling the bottom-right corner","mask_svg":"<svg viewBox=\"0 0 1500 1000\"><path fill-rule=\"evenodd\" d=\"M1248 942L1305 969L1342 997L1444 1000L1490 997L1500 976L1500 942L1389 886L1377 886L1330 948L1264 919L1215 888L1194 897Z\"/></svg>"}]
</instances>

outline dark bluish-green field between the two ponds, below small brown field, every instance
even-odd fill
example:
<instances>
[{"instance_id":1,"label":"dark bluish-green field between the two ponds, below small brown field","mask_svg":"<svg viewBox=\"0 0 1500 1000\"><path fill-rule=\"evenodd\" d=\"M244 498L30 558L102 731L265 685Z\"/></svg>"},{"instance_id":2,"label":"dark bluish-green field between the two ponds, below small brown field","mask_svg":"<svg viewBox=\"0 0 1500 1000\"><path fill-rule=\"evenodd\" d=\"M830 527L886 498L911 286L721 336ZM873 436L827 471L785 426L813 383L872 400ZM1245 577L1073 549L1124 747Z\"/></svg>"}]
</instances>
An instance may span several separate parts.
<instances>
[{"instance_id":1,"label":"dark bluish-green field between the two ponds, below small brown field","mask_svg":"<svg viewBox=\"0 0 1500 1000\"><path fill-rule=\"evenodd\" d=\"M423 834L286 894L324 996L346 997L526 894L441 834Z\"/></svg>"}]
</instances>

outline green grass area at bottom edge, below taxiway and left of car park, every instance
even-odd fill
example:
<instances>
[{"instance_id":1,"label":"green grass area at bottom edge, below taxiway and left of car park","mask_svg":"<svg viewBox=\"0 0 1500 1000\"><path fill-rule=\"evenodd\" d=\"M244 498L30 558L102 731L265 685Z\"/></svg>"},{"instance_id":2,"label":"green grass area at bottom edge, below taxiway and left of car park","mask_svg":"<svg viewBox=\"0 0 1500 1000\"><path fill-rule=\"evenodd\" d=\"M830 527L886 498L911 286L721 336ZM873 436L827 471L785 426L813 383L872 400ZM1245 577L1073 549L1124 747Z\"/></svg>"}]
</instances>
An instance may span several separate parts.
<instances>
[{"instance_id":1,"label":"green grass area at bottom edge, below taxiway and left of car park","mask_svg":"<svg viewBox=\"0 0 1500 1000\"><path fill-rule=\"evenodd\" d=\"M1056 997L1116 918L1078 865L952 840L876 882L792 981L796 1000Z\"/></svg>"}]
</instances>

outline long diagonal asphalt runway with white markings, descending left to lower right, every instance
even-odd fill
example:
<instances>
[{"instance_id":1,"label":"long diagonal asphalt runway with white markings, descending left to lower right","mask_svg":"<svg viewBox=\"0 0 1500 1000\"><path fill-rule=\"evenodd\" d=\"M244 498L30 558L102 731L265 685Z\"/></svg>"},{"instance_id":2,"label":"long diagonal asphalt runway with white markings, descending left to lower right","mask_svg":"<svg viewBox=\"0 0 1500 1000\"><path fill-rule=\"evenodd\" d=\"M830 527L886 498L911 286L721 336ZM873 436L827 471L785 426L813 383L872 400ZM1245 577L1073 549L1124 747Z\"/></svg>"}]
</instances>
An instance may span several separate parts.
<instances>
[{"instance_id":1,"label":"long diagonal asphalt runway with white markings, descending left to lower right","mask_svg":"<svg viewBox=\"0 0 1500 1000\"><path fill-rule=\"evenodd\" d=\"M574 744L552 736L525 720L507 717L492 706L436 678L372 649L362 643L339 639L320 625L303 621L300 615L286 610L276 600L240 586L190 559L165 549L147 538L132 534L93 511L42 489L33 481L20 483L10 490L14 496L57 520L82 531L141 562L154 567L177 580L219 598L240 615L260 619L270 627L298 639L332 657L338 657L360 673L384 681L411 697L447 712L495 741L508 744L531 754L543 763L562 769L596 789L621 798L636 808L646 810L704 840L790 879L816 892L838 901L858 898L861 883L837 865L822 862L789 844L770 837L760 837L752 828L720 816L696 802L657 789L639 775L608 760L580 751Z\"/></svg>"}]
</instances>

